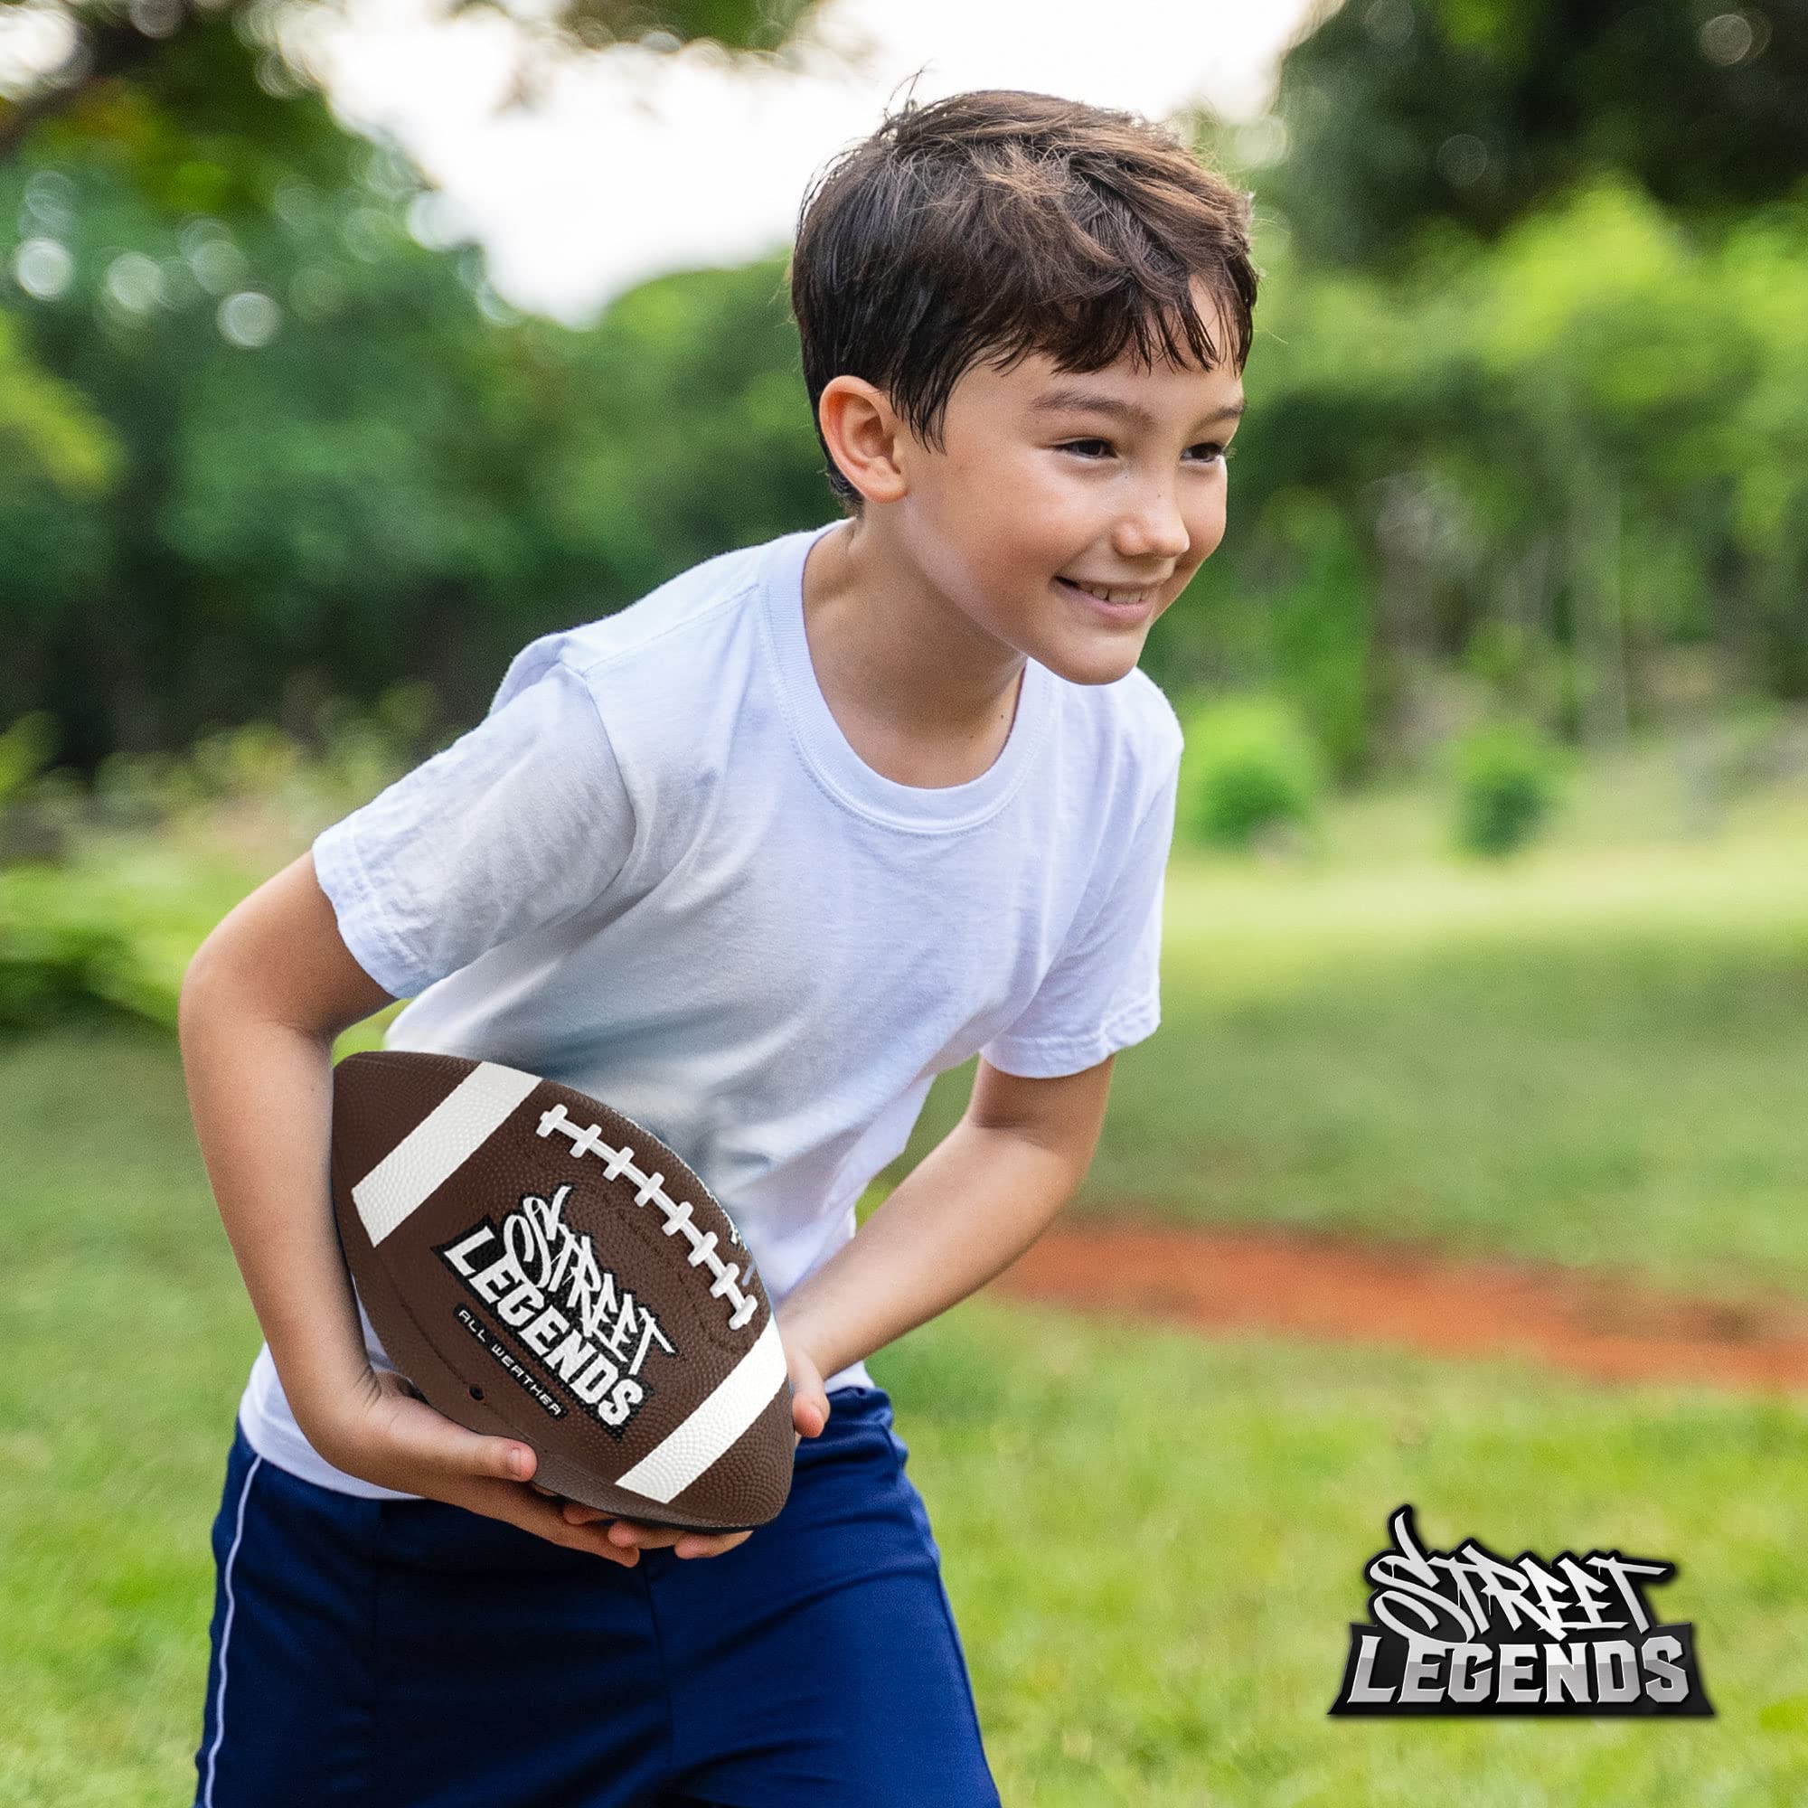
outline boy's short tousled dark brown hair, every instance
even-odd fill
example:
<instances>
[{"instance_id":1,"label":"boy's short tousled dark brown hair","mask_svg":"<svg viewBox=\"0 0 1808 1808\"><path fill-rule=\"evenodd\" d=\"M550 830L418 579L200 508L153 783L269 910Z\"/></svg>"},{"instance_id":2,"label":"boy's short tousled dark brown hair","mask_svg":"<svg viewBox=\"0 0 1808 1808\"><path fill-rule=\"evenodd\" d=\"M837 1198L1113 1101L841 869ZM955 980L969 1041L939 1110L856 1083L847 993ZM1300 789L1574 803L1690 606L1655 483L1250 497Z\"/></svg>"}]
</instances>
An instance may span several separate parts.
<instances>
[{"instance_id":1,"label":"boy's short tousled dark brown hair","mask_svg":"<svg viewBox=\"0 0 1808 1808\"><path fill-rule=\"evenodd\" d=\"M864 497L823 441L830 378L864 378L926 445L982 358L1040 351L1101 371L1126 344L1143 363L1226 349L1193 307L1204 278L1249 358L1258 271L1251 195L1202 166L1168 127L1054 94L975 89L899 112L810 184L790 260L810 418L844 513Z\"/></svg>"}]
</instances>

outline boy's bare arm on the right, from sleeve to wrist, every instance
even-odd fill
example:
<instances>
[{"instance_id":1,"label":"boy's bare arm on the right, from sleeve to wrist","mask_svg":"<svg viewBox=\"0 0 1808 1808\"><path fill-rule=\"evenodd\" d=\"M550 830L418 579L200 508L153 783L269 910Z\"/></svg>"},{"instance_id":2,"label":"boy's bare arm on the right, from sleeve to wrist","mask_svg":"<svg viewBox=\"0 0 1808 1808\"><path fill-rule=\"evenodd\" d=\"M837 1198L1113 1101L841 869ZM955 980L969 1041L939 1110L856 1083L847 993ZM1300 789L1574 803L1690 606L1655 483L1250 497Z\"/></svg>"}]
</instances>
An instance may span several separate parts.
<instances>
[{"instance_id":1,"label":"boy's bare arm on the right, from sleeve to wrist","mask_svg":"<svg viewBox=\"0 0 1808 1808\"><path fill-rule=\"evenodd\" d=\"M792 1289L783 1334L830 1376L1009 1267L1087 1177L1114 1059L1022 1079L982 1056L960 1123Z\"/></svg>"}]
</instances>

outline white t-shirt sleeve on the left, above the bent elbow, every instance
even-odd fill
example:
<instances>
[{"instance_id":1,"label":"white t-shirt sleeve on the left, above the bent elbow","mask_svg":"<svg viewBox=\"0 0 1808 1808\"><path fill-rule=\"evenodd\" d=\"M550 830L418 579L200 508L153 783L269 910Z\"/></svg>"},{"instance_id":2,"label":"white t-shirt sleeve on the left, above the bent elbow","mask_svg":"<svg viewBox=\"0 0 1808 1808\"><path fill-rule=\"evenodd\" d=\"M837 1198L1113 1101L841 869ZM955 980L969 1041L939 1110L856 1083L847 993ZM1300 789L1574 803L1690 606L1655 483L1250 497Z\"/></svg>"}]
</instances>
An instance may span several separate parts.
<instances>
[{"instance_id":1,"label":"white t-shirt sleeve on the left, above the bent elbow","mask_svg":"<svg viewBox=\"0 0 1808 1808\"><path fill-rule=\"evenodd\" d=\"M575 915L627 862L633 805L597 702L551 664L313 844L358 965L414 998Z\"/></svg>"}]
</instances>

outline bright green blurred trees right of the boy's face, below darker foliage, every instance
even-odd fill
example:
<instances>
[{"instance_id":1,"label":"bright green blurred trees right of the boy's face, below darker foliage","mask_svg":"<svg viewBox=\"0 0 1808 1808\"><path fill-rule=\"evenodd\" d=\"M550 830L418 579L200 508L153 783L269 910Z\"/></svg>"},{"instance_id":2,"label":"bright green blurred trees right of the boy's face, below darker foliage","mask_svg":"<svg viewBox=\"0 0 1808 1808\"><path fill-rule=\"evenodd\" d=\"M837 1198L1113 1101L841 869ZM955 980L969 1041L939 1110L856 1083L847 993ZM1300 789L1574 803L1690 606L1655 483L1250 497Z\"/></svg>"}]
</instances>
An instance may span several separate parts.
<instances>
[{"instance_id":1,"label":"bright green blurred trees right of the boy's face, below darker foliage","mask_svg":"<svg viewBox=\"0 0 1808 1808\"><path fill-rule=\"evenodd\" d=\"M1488 692L1598 745L1685 674L1808 698L1808 210L1712 244L1609 179L1408 271L1285 240L1264 269L1229 532L1150 640L1164 683L1289 696L1343 779Z\"/></svg>"}]
</instances>

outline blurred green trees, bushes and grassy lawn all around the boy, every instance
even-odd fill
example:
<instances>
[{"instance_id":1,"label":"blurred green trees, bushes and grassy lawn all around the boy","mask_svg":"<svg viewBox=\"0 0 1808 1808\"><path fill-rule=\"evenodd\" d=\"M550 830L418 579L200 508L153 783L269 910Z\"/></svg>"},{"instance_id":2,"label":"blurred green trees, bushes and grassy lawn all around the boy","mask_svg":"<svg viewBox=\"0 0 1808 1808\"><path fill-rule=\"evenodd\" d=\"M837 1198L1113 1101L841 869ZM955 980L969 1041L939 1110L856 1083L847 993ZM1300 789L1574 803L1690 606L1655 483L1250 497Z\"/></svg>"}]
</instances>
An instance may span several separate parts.
<instances>
[{"instance_id":1,"label":"blurred green trees, bushes and grassy lawn all around the boy","mask_svg":"<svg viewBox=\"0 0 1808 1808\"><path fill-rule=\"evenodd\" d=\"M758 58L810 11L533 22ZM259 1342L170 1036L193 947L524 640L833 504L781 253L542 318L282 7L24 13L78 54L0 90L0 1202L43 1352L0 1374L0 1803L150 1803ZM1320 5L1267 112L1179 123L1264 287L1229 532L1144 658L1188 729L1166 1023L1076 1210L1808 1296L1808 9ZM1808 1790L1794 1399L993 1300L875 1372L1007 1801ZM1721 1719L1325 1723L1399 1499L1678 1558Z\"/></svg>"}]
</instances>

